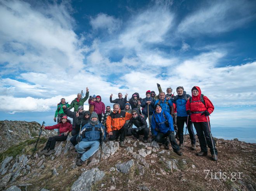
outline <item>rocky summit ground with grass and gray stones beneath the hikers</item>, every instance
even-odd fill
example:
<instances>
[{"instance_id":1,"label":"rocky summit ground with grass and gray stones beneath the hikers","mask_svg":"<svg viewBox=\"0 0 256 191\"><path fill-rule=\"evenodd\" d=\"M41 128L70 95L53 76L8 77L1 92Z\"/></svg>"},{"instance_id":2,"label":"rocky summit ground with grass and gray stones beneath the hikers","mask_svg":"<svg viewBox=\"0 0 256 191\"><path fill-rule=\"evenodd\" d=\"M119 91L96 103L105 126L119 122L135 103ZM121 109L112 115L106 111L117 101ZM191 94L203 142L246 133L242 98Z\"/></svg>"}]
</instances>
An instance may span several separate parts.
<instances>
[{"instance_id":1,"label":"rocky summit ground with grass and gray stones beneath the hikers","mask_svg":"<svg viewBox=\"0 0 256 191\"><path fill-rule=\"evenodd\" d=\"M128 136L124 148L119 147L119 142L103 143L102 152L100 148L81 167L77 167L77 153L69 141L71 136L64 142L56 143L56 152L52 155L46 157L35 154L31 157L40 124L24 121L1 121L0 124L1 130L5 132L5 137L1 136L0 190L256 189L255 143L215 138L218 148L216 164L211 160L210 154L204 157L196 155L200 151L198 140L197 150L191 150L188 135L185 135L182 156L174 153L171 148L165 150L164 145L156 142L143 143ZM6 130L12 132L8 134ZM38 150L42 150L47 137L52 136L49 132L55 133L48 130L43 132ZM4 142L10 143L3 144Z\"/></svg>"}]
</instances>

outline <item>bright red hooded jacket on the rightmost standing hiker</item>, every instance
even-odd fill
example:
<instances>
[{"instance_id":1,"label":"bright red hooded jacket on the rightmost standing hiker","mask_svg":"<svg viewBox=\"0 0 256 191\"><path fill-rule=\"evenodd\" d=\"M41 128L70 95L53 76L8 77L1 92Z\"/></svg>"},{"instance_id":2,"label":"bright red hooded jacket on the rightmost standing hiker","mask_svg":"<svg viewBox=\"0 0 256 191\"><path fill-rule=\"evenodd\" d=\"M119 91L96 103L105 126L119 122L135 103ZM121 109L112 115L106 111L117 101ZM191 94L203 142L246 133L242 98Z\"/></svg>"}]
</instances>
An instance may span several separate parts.
<instances>
[{"instance_id":1,"label":"bright red hooded jacket on the rightmost standing hiker","mask_svg":"<svg viewBox=\"0 0 256 191\"><path fill-rule=\"evenodd\" d=\"M196 111L208 111L210 114L213 112L214 110L214 106L212 104L212 102L208 99L208 97L203 96L204 103L200 102L200 97L201 97L201 90L200 87L194 86L198 91L199 94L197 96L194 96L192 94L192 102L190 103L190 99L188 99L187 103L186 103L186 111L190 110L192 111L191 114L191 121L192 122L207 122L207 118L210 121L209 116L205 117L205 115L201 115L202 113L193 113ZM199 102L193 102L193 101L199 101Z\"/></svg>"}]
</instances>

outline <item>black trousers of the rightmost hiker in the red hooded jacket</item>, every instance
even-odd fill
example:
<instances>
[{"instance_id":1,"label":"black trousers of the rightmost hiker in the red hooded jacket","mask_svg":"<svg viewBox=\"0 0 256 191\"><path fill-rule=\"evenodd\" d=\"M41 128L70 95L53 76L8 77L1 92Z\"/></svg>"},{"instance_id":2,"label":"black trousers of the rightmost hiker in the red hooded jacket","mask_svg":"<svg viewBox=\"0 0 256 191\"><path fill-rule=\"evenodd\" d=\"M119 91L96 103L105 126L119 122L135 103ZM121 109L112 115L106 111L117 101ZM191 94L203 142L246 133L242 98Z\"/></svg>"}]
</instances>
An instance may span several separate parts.
<instances>
[{"instance_id":1,"label":"black trousers of the rightmost hiker in the red hooded jacket","mask_svg":"<svg viewBox=\"0 0 256 191\"><path fill-rule=\"evenodd\" d=\"M215 142L214 139L211 139L211 135L210 135L210 131L209 131L209 127L208 127L208 123L207 122L193 122L194 126L195 126L195 130L197 131L197 137L199 139L199 143L200 143L200 147L201 147L201 151L207 153L208 149L206 147L206 144L208 145L208 147L210 148L210 152L213 155L214 151L215 154L217 155L217 149L215 148ZM209 122L210 124L210 122ZM211 125L210 125L211 128ZM213 147L212 147L212 143L213 143Z\"/></svg>"}]
</instances>

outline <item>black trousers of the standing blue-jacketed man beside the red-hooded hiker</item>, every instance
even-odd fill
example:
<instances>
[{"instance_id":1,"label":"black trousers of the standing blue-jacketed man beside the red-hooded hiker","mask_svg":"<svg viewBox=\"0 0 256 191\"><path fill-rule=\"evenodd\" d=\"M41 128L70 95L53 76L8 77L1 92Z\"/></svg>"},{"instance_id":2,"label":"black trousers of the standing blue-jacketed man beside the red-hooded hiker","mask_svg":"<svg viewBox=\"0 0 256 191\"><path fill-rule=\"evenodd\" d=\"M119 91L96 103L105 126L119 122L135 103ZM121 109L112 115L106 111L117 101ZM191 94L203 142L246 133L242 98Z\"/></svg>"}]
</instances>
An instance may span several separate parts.
<instances>
[{"instance_id":1,"label":"black trousers of the standing blue-jacketed man beside the red-hooded hiker","mask_svg":"<svg viewBox=\"0 0 256 191\"><path fill-rule=\"evenodd\" d=\"M178 136L179 136L179 144L183 143L183 135L184 135L184 124L187 124L188 118L188 133L190 136L191 144L195 145L195 133L193 130L193 124L191 122L191 118L189 117L177 117L177 126L178 126Z\"/></svg>"}]
</instances>

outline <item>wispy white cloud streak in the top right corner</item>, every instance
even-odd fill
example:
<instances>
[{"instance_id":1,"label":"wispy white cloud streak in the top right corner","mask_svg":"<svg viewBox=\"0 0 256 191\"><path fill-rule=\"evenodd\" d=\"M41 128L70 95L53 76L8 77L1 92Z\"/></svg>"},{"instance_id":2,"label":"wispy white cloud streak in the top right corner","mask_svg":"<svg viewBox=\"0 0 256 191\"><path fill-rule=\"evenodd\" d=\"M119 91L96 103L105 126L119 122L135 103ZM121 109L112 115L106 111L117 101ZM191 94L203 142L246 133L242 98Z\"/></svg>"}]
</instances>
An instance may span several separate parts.
<instances>
[{"instance_id":1,"label":"wispy white cloud streak in the top right corner","mask_svg":"<svg viewBox=\"0 0 256 191\"><path fill-rule=\"evenodd\" d=\"M191 36L230 31L254 20L255 9L255 2L249 0L213 1L187 15L179 24L178 31Z\"/></svg>"}]
</instances>

